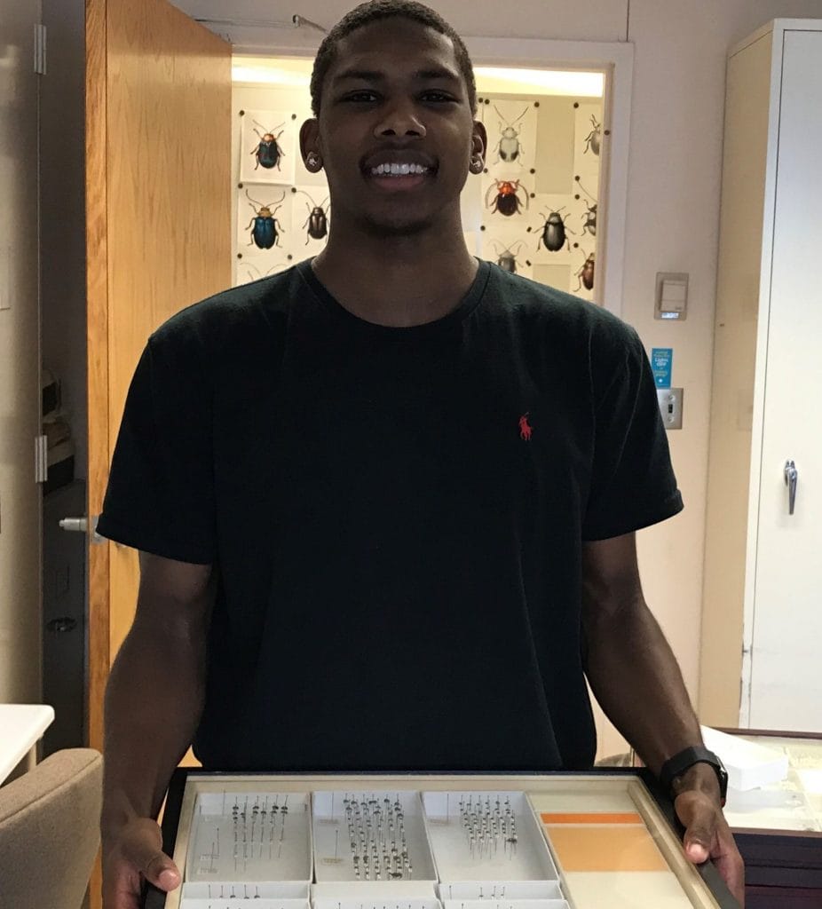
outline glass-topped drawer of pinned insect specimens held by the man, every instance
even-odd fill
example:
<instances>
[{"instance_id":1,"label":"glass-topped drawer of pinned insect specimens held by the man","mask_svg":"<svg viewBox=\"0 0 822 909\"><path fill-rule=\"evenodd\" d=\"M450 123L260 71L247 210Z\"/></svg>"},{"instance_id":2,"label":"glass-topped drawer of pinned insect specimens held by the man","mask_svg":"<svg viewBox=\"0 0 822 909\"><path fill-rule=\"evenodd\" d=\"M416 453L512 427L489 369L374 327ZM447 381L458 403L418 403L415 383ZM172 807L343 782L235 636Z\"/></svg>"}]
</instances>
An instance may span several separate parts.
<instances>
[{"instance_id":1,"label":"glass-topped drawer of pinned insect specimens held by the man","mask_svg":"<svg viewBox=\"0 0 822 909\"><path fill-rule=\"evenodd\" d=\"M145 909L732 909L643 770L426 776L176 771ZM657 791L658 796L658 791Z\"/></svg>"}]
</instances>

